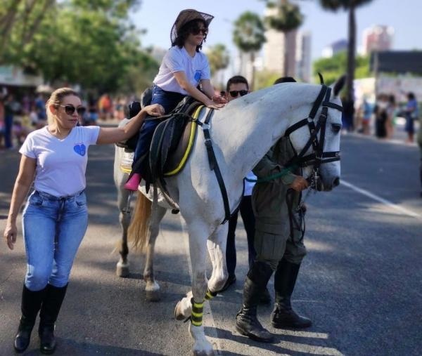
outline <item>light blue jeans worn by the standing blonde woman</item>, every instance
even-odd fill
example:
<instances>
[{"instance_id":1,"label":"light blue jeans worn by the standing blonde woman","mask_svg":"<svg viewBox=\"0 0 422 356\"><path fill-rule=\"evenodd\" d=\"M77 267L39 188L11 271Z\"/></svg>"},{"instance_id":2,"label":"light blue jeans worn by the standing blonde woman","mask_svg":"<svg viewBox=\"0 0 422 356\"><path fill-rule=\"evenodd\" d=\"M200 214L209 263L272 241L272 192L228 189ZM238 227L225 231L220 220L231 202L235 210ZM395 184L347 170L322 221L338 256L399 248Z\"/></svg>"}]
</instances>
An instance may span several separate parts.
<instances>
[{"instance_id":1,"label":"light blue jeans worn by the standing blonde woman","mask_svg":"<svg viewBox=\"0 0 422 356\"><path fill-rule=\"evenodd\" d=\"M54 197L34 191L23 213L23 237L27 255L25 286L31 291L47 283L68 284L70 269L87 231L87 197Z\"/></svg>"}]
</instances>

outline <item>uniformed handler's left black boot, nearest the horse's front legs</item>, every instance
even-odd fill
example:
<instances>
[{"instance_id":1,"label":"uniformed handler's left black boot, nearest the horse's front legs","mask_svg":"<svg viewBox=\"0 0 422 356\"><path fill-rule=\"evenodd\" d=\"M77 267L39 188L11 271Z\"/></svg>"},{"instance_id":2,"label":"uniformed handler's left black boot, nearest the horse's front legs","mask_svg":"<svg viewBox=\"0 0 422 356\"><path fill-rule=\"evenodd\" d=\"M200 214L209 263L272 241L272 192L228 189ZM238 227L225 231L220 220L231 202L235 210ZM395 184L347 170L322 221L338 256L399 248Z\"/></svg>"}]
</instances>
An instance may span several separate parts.
<instances>
[{"instance_id":1,"label":"uniformed handler's left black boot, nearest the horse's front legs","mask_svg":"<svg viewBox=\"0 0 422 356\"><path fill-rule=\"evenodd\" d=\"M258 321L257 305L272 272L267 263L255 261L252 264L243 286L243 305L236 315L237 331L252 340L264 343L271 343L273 336Z\"/></svg>"}]
</instances>

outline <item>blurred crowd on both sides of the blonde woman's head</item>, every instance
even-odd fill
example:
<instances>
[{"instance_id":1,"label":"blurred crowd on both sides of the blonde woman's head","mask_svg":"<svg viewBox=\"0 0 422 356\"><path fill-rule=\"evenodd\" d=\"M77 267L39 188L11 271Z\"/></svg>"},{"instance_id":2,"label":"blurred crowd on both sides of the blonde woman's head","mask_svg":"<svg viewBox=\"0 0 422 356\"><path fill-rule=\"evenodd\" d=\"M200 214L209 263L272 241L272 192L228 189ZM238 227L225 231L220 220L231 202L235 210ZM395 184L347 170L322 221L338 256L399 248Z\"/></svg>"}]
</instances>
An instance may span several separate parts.
<instances>
[{"instance_id":1,"label":"blurred crowd on both sides of the blonde woman's head","mask_svg":"<svg viewBox=\"0 0 422 356\"><path fill-rule=\"evenodd\" d=\"M47 124L46 100L48 93L11 93L6 88L0 91L0 150L14 149L23 144L27 135ZM98 119L122 120L127 103L134 98L103 94L96 99L88 95L82 98L84 112L79 118L82 126L97 125Z\"/></svg>"}]
</instances>

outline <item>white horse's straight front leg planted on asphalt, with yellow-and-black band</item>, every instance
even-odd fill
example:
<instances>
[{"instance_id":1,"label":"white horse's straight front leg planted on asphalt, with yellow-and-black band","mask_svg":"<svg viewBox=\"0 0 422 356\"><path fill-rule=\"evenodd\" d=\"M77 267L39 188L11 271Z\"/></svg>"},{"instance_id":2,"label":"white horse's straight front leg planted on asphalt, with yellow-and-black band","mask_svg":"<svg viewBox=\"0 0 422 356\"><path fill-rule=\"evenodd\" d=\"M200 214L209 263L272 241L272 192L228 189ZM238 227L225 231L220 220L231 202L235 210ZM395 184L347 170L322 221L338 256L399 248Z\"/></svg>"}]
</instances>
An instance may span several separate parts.
<instances>
[{"instance_id":1,"label":"white horse's straight front leg planted on asphalt, with yellow-and-black band","mask_svg":"<svg viewBox=\"0 0 422 356\"><path fill-rule=\"evenodd\" d=\"M205 337L203 327L203 303L207 291L207 276L205 272L207 238L210 233L203 224L196 224L189 228L189 251L192 265L192 291L189 292L176 306L176 319L191 317L189 333L193 344L193 355L214 355L212 345Z\"/></svg>"}]
</instances>

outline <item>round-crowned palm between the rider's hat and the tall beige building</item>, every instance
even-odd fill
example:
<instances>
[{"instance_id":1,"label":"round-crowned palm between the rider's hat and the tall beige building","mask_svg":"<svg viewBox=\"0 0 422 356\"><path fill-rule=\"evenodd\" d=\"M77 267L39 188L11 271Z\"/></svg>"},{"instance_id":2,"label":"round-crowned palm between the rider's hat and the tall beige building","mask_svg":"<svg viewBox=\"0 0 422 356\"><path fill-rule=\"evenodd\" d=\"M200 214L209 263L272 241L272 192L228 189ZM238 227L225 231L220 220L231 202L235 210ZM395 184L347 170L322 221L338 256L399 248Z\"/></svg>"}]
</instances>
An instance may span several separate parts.
<instances>
[{"instance_id":1,"label":"round-crowned palm between the rider's hat and the tall beige building","mask_svg":"<svg viewBox=\"0 0 422 356\"><path fill-rule=\"evenodd\" d=\"M250 88L254 86L255 80L255 53L260 51L265 42L265 29L259 15L246 11L234 22L233 41L241 53L250 54L252 62L252 80Z\"/></svg>"}]
</instances>

